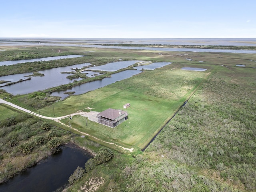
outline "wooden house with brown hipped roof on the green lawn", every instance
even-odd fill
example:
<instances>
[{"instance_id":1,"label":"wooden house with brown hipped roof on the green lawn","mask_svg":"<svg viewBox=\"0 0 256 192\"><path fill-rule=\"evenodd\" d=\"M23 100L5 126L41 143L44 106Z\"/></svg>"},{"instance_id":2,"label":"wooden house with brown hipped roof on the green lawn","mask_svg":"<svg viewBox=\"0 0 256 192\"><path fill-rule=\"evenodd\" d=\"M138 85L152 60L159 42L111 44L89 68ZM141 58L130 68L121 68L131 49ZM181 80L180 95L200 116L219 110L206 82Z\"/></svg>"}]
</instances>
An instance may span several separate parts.
<instances>
[{"instance_id":1,"label":"wooden house with brown hipped roof on the green lawn","mask_svg":"<svg viewBox=\"0 0 256 192\"><path fill-rule=\"evenodd\" d=\"M128 113L126 111L109 108L99 113L97 117L98 123L115 127L128 119Z\"/></svg>"}]
</instances>

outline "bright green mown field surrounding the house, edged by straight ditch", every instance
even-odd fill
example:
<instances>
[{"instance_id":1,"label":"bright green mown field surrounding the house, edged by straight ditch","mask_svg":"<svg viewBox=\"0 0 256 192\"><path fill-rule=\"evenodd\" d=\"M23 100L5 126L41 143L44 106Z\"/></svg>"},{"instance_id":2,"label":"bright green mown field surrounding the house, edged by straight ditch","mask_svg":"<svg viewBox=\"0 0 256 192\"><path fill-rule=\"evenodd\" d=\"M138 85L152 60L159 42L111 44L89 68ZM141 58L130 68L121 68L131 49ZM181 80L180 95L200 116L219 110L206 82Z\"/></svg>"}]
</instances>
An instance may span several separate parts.
<instances>
[{"instance_id":1,"label":"bright green mown field surrounding the house, edged by straight ditch","mask_svg":"<svg viewBox=\"0 0 256 192\"><path fill-rule=\"evenodd\" d=\"M181 70L177 64L146 71L103 88L71 96L54 104L55 116L72 114L90 107L102 112L108 108L127 109L128 120L115 128L88 121L82 116L70 120L72 128L88 133L100 140L139 149L145 147L154 135L175 114L180 106L206 78L205 72ZM41 114L52 114L52 107L41 109ZM125 109L123 109L125 110ZM68 118L62 120L68 124Z\"/></svg>"}]
</instances>

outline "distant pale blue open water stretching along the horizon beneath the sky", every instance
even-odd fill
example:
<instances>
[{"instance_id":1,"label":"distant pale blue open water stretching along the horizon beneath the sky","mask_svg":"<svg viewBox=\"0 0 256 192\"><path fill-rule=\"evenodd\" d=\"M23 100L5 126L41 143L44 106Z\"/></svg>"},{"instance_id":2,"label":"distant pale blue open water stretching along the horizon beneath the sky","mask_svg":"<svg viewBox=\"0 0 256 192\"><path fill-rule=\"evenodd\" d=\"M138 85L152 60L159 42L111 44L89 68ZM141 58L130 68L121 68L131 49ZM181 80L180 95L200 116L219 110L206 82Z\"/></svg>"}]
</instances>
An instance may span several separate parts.
<instances>
[{"instance_id":1,"label":"distant pale blue open water stretching along the horizon beneath the sky","mask_svg":"<svg viewBox=\"0 0 256 192\"><path fill-rule=\"evenodd\" d=\"M19 41L19 43L17 42ZM256 46L256 38L0 38L1 45L27 44L25 41L76 44L166 44ZM30 42L32 43L32 42Z\"/></svg>"}]
</instances>

